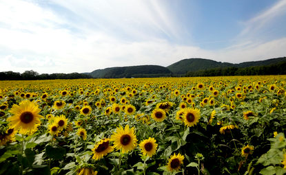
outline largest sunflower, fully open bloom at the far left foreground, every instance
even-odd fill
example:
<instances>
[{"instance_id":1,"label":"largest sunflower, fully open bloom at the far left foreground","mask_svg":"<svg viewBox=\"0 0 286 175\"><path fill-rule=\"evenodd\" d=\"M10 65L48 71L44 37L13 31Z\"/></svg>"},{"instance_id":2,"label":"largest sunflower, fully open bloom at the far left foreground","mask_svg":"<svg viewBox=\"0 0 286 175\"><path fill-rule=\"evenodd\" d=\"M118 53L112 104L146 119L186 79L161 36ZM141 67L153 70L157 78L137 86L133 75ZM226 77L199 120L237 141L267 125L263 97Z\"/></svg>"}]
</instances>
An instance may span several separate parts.
<instances>
[{"instance_id":1,"label":"largest sunflower, fully open bloom at the far left foreground","mask_svg":"<svg viewBox=\"0 0 286 175\"><path fill-rule=\"evenodd\" d=\"M40 118L43 116L39 115L40 111L41 109L38 108L37 104L25 100L19 105L13 104L9 112L14 115L9 117L7 121L10 121L10 127L19 130L20 134L32 135L41 124Z\"/></svg>"}]
</instances>

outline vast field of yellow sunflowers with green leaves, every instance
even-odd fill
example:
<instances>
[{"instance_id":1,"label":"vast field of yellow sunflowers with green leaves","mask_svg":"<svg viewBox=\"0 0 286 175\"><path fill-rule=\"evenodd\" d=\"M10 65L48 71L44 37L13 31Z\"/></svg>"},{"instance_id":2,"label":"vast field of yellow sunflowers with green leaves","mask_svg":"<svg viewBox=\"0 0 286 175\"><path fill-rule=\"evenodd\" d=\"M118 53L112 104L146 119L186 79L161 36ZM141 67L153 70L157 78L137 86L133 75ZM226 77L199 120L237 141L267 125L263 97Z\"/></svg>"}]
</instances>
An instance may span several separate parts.
<instances>
[{"instance_id":1,"label":"vast field of yellow sunflowers with green leaves","mask_svg":"<svg viewBox=\"0 0 286 175\"><path fill-rule=\"evenodd\" d=\"M0 174L285 174L286 76L0 82Z\"/></svg>"}]
</instances>

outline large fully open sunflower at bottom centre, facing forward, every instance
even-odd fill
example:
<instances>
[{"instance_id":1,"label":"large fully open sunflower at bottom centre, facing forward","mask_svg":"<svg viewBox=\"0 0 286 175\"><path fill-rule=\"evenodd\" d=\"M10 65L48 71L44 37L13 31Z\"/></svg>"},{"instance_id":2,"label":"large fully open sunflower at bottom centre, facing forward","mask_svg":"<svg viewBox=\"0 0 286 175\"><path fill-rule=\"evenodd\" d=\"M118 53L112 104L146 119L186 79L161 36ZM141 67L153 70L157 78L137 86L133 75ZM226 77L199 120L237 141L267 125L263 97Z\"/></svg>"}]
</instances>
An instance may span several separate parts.
<instances>
[{"instance_id":1,"label":"large fully open sunflower at bottom centre, facing forward","mask_svg":"<svg viewBox=\"0 0 286 175\"><path fill-rule=\"evenodd\" d=\"M113 132L110 140L114 141L114 148L121 150L123 154L134 150L137 142L134 128L130 129L129 125L126 125L124 129L122 126L116 128L116 132Z\"/></svg>"}]
</instances>

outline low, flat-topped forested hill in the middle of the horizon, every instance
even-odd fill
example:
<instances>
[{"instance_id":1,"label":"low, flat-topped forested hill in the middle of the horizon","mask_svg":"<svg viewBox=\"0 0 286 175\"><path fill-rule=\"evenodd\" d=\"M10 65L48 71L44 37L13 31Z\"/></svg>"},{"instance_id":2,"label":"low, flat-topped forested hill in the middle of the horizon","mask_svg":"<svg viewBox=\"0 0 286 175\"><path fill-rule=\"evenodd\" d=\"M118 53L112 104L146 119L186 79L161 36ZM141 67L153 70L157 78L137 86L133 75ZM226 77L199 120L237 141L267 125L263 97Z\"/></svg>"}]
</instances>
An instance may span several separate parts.
<instances>
[{"instance_id":1,"label":"low, flat-topped forested hill in the middle of the horizon","mask_svg":"<svg viewBox=\"0 0 286 175\"><path fill-rule=\"evenodd\" d=\"M86 74L91 75L92 78L145 78L171 76L172 72L161 66L143 65L132 67L109 67Z\"/></svg>"}]
</instances>

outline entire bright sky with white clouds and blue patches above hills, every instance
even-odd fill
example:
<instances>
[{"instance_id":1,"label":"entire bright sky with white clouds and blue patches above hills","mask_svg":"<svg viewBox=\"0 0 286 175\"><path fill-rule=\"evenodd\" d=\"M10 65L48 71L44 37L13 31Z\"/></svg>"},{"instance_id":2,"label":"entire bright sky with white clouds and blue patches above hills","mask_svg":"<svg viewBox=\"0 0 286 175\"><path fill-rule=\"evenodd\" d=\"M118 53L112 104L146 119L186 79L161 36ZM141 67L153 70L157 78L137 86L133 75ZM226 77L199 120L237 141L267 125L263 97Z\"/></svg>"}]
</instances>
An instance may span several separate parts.
<instances>
[{"instance_id":1,"label":"entire bright sky with white clouds and blue patches above hills","mask_svg":"<svg viewBox=\"0 0 286 175\"><path fill-rule=\"evenodd\" d=\"M286 56L286 0L0 0L0 71Z\"/></svg>"}]
</instances>

